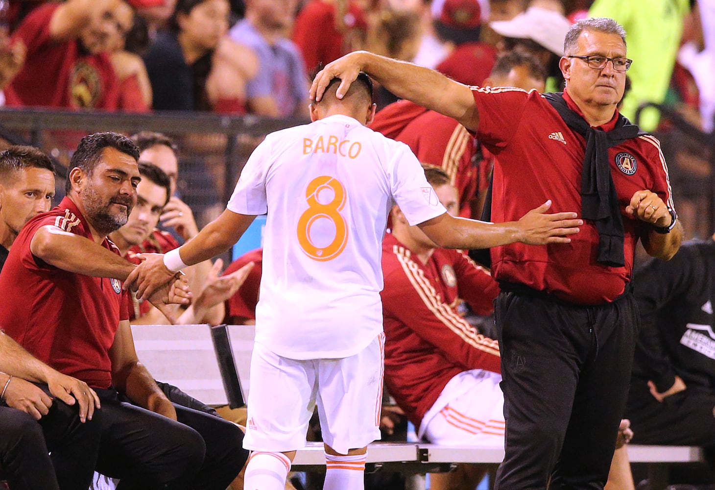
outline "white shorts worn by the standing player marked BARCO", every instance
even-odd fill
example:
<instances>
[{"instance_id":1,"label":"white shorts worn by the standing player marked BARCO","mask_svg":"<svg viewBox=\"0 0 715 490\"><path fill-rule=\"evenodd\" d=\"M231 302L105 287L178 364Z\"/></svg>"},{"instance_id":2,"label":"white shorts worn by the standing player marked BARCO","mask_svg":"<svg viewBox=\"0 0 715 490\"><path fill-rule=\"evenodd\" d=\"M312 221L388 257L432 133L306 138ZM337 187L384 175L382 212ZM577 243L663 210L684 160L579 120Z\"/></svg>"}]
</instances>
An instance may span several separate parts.
<instances>
[{"instance_id":1,"label":"white shorts worn by the standing player marked BARCO","mask_svg":"<svg viewBox=\"0 0 715 490\"><path fill-rule=\"evenodd\" d=\"M340 454L380 438L385 334L341 359L297 361L255 344L243 447L285 452L305 446L317 403L325 444Z\"/></svg>"}]
</instances>

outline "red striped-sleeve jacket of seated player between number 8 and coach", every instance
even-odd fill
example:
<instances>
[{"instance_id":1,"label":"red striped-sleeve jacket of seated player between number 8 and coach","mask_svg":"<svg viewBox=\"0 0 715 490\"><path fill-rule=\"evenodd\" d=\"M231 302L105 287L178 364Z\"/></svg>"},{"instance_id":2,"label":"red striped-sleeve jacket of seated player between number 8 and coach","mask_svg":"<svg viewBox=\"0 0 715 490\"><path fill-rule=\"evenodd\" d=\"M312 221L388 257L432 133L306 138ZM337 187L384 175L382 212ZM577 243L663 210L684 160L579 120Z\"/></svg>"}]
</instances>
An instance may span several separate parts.
<instances>
[{"instance_id":1,"label":"red striped-sleeve jacket of seated player between number 8 and coach","mask_svg":"<svg viewBox=\"0 0 715 490\"><path fill-rule=\"evenodd\" d=\"M470 369L501 372L496 340L457 313L461 299L482 315L498 286L460 250L436 248L423 264L393 235L383 240L385 383L408 419L420 425L445 385Z\"/></svg>"}]
</instances>

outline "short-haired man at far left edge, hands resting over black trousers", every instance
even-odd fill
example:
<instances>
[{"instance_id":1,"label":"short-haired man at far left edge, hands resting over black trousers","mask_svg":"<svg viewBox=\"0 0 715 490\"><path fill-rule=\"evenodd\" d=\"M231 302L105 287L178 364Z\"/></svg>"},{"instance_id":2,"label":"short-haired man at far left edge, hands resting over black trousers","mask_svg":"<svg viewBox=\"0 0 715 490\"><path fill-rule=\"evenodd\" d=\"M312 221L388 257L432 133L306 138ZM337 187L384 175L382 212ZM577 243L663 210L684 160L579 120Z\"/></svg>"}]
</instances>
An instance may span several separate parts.
<instances>
[{"instance_id":1,"label":"short-haired man at far left edge, hands resting over black trousers","mask_svg":"<svg viewBox=\"0 0 715 490\"><path fill-rule=\"evenodd\" d=\"M22 227L49 211L53 196L49 157L21 146L0 153L0 270ZM95 396L0 330L0 479L13 489L86 490L99 447Z\"/></svg>"}]
</instances>

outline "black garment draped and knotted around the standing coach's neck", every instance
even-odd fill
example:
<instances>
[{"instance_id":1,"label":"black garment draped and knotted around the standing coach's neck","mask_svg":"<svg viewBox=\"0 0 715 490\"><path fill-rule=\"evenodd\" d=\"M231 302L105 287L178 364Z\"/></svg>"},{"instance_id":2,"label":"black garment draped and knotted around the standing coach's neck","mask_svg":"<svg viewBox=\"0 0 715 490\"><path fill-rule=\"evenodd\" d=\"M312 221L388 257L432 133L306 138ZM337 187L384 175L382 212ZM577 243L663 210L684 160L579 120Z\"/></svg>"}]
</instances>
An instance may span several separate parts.
<instances>
[{"instance_id":1,"label":"black garment draped and knotted around the standing coach's neck","mask_svg":"<svg viewBox=\"0 0 715 490\"><path fill-rule=\"evenodd\" d=\"M608 148L646 133L620 114L613 130L605 132L593 128L586 119L566 105L563 92L544 94L544 97L556 109L563 122L586 139L581 170L581 217L596 222L596 262L610 267L623 267L626 265L623 255L623 216L611 176Z\"/></svg>"}]
</instances>

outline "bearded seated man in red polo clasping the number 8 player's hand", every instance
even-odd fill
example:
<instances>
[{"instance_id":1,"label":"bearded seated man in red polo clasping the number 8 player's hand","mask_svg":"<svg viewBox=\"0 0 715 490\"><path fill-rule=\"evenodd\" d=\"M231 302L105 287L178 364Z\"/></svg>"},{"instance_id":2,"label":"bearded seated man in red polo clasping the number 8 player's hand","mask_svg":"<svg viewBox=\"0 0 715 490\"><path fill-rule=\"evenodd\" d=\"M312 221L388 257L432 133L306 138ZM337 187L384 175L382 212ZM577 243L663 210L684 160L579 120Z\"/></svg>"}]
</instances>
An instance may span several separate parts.
<instances>
[{"instance_id":1,"label":"bearded seated man in red polo clasping the number 8 player's hand","mask_svg":"<svg viewBox=\"0 0 715 490\"><path fill-rule=\"evenodd\" d=\"M134 265L107 235L137 202L139 150L116 133L84 137L67 197L30 220L0 275L0 325L102 401L97 471L120 488L225 490L247 459L232 423L172 403L137 359L121 282ZM185 280L152 297L187 300ZM212 456L207 456L211 454ZM205 456L205 457L204 457Z\"/></svg>"}]
</instances>

